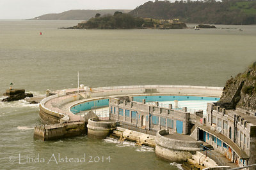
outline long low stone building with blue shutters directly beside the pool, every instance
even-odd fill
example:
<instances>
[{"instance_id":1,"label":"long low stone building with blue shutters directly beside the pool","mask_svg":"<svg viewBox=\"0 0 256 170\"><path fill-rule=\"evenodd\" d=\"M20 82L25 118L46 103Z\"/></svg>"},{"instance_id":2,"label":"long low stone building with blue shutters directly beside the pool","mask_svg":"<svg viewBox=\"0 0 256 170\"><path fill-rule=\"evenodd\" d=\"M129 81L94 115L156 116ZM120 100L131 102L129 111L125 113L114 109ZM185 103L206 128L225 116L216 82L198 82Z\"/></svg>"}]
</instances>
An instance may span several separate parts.
<instances>
[{"instance_id":1,"label":"long low stone building with blue shutters directly beside the pool","mask_svg":"<svg viewBox=\"0 0 256 170\"><path fill-rule=\"evenodd\" d=\"M177 132L177 122L179 122L179 133L190 133L190 113L183 110L174 110L172 105L169 108L161 108L158 103L146 104L131 101L120 101L120 99L111 97L109 99L109 117L111 120L125 122L136 127L142 127L147 130L158 131L160 129L169 129ZM181 127L182 126L182 127Z\"/></svg>"}]
</instances>

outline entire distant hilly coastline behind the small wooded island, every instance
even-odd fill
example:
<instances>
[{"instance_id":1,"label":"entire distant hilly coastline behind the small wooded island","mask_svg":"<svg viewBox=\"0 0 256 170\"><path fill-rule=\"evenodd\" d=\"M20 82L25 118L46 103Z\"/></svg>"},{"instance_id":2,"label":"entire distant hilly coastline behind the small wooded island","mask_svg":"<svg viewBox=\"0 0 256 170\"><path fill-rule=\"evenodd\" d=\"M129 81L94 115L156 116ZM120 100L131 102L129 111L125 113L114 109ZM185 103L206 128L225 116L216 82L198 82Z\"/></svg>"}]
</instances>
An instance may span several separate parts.
<instances>
[{"instance_id":1,"label":"entire distant hilly coastline behind the small wooded island","mask_svg":"<svg viewBox=\"0 0 256 170\"><path fill-rule=\"evenodd\" d=\"M31 20L89 20L96 13L113 15L115 11L134 17L169 20L179 18L185 23L256 24L256 1L204 0L204 1L148 1L134 10L70 10L49 13Z\"/></svg>"}]
</instances>

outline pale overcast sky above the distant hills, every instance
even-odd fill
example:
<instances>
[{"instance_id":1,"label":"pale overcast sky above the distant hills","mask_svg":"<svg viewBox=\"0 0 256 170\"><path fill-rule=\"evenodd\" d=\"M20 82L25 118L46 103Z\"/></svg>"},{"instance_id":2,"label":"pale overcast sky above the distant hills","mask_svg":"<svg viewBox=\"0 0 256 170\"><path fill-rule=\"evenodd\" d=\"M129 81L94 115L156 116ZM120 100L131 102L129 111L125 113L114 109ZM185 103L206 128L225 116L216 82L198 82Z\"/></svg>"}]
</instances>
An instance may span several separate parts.
<instances>
[{"instance_id":1,"label":"pale overcast sky above the distant hills","mask_svg":"<svg viewBox=\"0 0 256 170\"><path fill-rule=\"evenodd\" d=\"M150 0L0 0L0 19L28 19L67 10L133 10L147 1Z\"/></svg>"}]
</instances>

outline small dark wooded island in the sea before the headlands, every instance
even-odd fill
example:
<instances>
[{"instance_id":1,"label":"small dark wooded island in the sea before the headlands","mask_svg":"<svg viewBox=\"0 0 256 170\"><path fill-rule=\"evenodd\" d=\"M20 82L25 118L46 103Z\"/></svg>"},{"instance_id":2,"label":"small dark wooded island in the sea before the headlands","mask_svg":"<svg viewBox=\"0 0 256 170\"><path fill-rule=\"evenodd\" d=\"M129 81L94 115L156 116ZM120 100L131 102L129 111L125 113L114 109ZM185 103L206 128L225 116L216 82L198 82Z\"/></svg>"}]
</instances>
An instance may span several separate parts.
<instances>
[{"instance_id":1,"label":"small dark wooded island in the sea before the headlands","mask_svg":"<svg viewBox=\"0 0 256 170\"><path fill-rule=\"evenodd\" d=\"M90 18L87 22L81 22L67 29L182 29L186 27L186 24L179 20L132 17L127 13L116 11L114 15L104 15L103 17L97 13L95 18Z\"/></svg>"}]
</instances>

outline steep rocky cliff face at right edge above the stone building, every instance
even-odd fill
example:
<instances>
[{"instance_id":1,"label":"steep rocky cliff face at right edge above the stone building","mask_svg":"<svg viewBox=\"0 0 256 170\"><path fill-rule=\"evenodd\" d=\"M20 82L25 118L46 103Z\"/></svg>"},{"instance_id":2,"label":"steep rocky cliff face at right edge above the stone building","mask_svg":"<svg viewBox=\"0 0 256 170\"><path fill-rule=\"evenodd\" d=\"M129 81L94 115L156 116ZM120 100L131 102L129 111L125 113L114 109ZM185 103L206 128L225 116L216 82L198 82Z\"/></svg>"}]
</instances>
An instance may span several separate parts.
<instances>
[{"instance_id":1,"label":"steep rocky cliff face at right edge above the stone building","mask_svg":"<svg viewBox=\"0 0 256 170\"><path fill-rule=\"evenodd\" d=\"M227 81L219 102L232 102L239 108L256 110L256 62Z\"/></svg>"}]
</instances>

